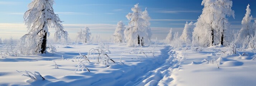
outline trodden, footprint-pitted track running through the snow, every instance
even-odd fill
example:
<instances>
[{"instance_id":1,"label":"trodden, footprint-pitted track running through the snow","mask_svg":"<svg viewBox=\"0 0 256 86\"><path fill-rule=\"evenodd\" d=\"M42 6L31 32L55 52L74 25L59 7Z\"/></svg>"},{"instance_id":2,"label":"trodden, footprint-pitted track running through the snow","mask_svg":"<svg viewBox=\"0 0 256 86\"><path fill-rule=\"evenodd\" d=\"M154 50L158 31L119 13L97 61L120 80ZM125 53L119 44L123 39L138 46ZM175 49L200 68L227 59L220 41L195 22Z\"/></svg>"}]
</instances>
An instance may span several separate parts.
<instances>
[{"instance_id":1,"label":"trodden, footprint-pitted track running through the snow","mask_svg":"<svg viewBox=\"0 0 256 86\"><path fill-rule=\"evenodd\" d=\"M125 86L168 86L173 80L173 78L170 77L172 70L178 68L181 64L181 60L184 59L181 52L171 51L171 49L172 48L168 49L168 51L165 51L166 49L161 50L162 54L168 55L162 65L138 77L136 81L128 82Z\"/></svg>"}]
</instances>

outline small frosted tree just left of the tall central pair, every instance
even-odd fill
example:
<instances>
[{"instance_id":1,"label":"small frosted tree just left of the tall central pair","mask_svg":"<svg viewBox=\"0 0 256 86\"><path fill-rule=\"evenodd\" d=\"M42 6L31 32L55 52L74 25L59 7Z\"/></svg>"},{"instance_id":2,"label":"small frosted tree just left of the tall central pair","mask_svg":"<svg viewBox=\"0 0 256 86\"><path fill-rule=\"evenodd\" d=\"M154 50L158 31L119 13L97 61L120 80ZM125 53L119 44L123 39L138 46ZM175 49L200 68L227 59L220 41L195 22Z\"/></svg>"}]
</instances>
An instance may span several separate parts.
<instances>
[{"instance_id":1,"label":"small frosted tree just left of the tall central pair","mask_svg":"<svg viewBox=\"0 0 256 86\"><path fill-rule=\"evenodd\" d=\"M123 42L124 41L124 30L125 30L125 25L122 21L117 23L117 27L115 28L114 32L114 42Z\"/></svg>"}]
</instances>

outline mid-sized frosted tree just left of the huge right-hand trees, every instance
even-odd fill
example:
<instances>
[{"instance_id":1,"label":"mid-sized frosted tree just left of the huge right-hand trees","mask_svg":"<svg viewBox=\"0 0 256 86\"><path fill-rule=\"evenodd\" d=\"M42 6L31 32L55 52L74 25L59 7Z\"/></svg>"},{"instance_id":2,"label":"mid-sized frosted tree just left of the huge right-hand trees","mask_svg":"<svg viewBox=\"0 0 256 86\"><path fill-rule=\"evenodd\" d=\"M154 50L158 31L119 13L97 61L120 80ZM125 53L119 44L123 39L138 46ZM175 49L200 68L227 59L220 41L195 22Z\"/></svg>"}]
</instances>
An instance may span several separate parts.
<instances>
[{"instance_id":1,"label":"mid-sized frosted tree just left of the huge right-hand trees","mask_svg":"<svg viewBox=\"0 0 256 86\"><path fill-rule=\"evenodd\" d=\"M184 40L185 42L191 42L192 41L192 32L193 32L194 28L195 28L195 25L193 22L190 22L190 23L186 22L184 30L183 30L180 38L182 40Z\"/></svg>"}]
</instances>

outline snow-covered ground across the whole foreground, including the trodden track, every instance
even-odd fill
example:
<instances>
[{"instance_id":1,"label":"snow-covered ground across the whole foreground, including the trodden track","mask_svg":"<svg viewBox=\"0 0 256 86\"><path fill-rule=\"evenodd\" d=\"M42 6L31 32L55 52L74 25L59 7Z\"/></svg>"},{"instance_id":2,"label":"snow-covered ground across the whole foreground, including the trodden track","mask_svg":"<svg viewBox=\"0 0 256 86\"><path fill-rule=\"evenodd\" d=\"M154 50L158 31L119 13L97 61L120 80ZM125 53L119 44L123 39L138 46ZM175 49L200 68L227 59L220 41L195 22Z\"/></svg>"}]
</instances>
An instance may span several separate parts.
<instances>
[{"instance_id":1,"label":"snow-covered ground across the whole foreground, including the trodden track","mask_svg":"<svg viewBox=\"0 0 256 86\"><path fill-rule=\"evenodd\" d=\"M256 59L252 50L232 54L222 52L226 47L211 46L202 51L191 47L176 50L165 44L127 47L109 43L107 53L113 61L109 67L97 63L97 55L88 56L99 44L75 43L68 47L55 44L57 52L0 58L0 86L254 86ZM0 45L3 49L4 45ZM51 50L51 49L50 49ZM48 52L51 52L48 50ZM89 71L76 71L81 54L89 57ZM154 54L152 53L154 52ZM140 53L141 52L141 53ZM144 54L144 53L145 54ZM242 54L245 53L245 54ZM63 56L63 58L62 58ZM120 58L122 57L122 63ZM212 60L213 59L213 60ZM216 59L216 61L214 60ZM55 68L55 61L58 68ZM219 68L218 68L218 66ZM25 72L39 72L42 78L33 80ZM30 74L31 75L31 74Z\"/></svg>"}]
</instances>

